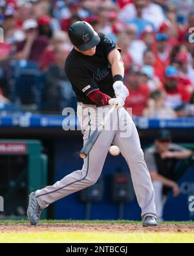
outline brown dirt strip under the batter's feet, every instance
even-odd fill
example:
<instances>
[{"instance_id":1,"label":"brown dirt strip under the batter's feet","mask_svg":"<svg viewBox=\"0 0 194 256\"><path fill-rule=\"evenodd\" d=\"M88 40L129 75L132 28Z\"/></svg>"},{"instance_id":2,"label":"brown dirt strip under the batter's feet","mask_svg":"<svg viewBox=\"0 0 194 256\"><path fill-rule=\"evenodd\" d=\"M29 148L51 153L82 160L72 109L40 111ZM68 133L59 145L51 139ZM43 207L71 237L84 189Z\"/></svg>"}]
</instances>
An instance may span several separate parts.
<instances>
[{"instance_id":1,"label":"brown dirt strip under the batter's feet","mask_svg":"<svg viewBox=\"0 0 194 256\"><path fill-rule=\"evenodd\" d=\"M142 224L98 224L98 223L40 223L30 226L28 223L0 224L0 233L25 232L109 232L109 233L135 233L135 232L169 232L194 233L194 224L158 224L156 227L142 227Z\"/></svg>"}]
</instances>

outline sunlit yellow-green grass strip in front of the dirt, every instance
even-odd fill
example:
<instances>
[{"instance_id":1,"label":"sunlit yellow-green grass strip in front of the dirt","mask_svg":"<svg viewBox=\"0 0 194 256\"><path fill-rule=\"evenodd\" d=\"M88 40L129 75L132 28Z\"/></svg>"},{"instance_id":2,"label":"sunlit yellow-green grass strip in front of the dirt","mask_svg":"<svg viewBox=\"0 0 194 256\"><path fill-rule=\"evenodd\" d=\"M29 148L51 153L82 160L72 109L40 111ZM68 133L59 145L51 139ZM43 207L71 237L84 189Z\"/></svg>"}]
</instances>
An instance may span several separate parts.
<instances>
[{"instance_id":1,"label":"sunlit yellow-green grass strip in front of the dirt","mask_svg":"<svg viewBox=\"0 0 194 256\"><path fill-rule=\"evenodd\" d=\"M0 242L194 242L193 233L5 233L0 234Z\"/></svg>"}]
</instances>

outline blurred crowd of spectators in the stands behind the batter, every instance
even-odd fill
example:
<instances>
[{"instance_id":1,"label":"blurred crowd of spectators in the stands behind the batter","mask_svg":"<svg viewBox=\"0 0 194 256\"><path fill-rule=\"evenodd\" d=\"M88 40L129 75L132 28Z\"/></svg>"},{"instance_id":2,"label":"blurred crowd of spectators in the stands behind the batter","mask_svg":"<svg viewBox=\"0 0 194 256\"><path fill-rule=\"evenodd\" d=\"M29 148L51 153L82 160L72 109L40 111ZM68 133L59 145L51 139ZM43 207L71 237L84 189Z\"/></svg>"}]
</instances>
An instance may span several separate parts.
<instances>
[{"instance_id":1,"label":"blurred crowd of spectators in the stands behind the batter","mask_svg":"<svg viewBox=\"0 0 194 256\"><path fill-rule=\"evenodd\" d=\"M0 0L0 108L75 104L64 62L78 20L122 49L134 116L194 116L193 0Z\"/></svg>"}]
</instances>

